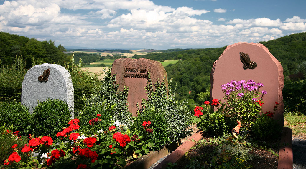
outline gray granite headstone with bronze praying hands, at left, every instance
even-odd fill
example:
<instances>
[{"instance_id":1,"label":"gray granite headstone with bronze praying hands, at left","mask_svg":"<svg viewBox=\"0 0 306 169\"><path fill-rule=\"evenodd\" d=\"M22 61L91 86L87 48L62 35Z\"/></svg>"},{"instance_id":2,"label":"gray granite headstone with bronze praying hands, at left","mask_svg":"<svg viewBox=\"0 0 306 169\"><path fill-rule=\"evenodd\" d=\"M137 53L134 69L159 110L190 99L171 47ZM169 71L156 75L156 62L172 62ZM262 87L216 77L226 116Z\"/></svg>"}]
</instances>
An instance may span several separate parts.
<instances>
[{"instance_id":1,"label":"gray granite headstone with bronze praying hands, at left","mask_svg":"<svg viewBox=\"0 0 306 169\"><path fill-rule=\"evenodd\" d=\"M44 70L50 69L47 82L38 79ZM21 103L32 113L37 101L58 99L68 104L71 118L74 118L74 93L70 73L61 65L44 63L33 66L25 74L22 82Z\"/></svg>"}]
</instances>

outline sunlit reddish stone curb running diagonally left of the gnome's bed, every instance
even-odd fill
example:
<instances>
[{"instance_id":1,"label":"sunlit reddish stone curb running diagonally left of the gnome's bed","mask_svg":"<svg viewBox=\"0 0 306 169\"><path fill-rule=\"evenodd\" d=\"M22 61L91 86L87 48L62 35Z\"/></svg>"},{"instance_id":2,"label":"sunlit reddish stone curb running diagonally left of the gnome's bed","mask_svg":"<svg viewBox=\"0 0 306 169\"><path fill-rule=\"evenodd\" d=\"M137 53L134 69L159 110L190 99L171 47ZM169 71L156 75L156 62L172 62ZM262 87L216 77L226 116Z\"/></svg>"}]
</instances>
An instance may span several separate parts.
<instances>
[{"instance_id":1,"label":"sunlit reddish stone curb running diagonally left of the gnome's bed","mask_svg":"<svg viewBox=\"0 0 306 169\"><path fill-rule=\"evenodd\" d=\"M162 169L166 168L168 163L176 163L181 157L193 147L197 141L203 138L203 132L198 130L195 134L193 134L187 141L185 141L181 146L179 146L174 152L172 152L168 157L166 157L161 163L159 163L154 169ZM189 140L194 140L189 141Z\"/></svg>"}]
</instances>

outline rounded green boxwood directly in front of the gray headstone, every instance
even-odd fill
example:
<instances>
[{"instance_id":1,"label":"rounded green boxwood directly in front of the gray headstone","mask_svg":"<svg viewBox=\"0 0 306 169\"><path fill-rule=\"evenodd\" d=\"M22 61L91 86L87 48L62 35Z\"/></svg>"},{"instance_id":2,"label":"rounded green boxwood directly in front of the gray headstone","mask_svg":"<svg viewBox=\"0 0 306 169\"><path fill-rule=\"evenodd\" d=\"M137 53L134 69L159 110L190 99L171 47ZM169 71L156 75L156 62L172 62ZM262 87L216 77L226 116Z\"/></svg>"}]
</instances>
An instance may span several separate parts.
<instances>
[{"instance_id":1,"label":"rounded green boxwood directly in front of the gray headstone","mask_svg":"<svg viewBox=\"0 0 306 169\"><path fill-rule=\"evenodd\" d=\"M55 143L58 143L60 139L56 134L67 126L71 114L64 101L47 99L34 108L32 118L32 134L50 136Z\"/></svg>"}]
</instances>

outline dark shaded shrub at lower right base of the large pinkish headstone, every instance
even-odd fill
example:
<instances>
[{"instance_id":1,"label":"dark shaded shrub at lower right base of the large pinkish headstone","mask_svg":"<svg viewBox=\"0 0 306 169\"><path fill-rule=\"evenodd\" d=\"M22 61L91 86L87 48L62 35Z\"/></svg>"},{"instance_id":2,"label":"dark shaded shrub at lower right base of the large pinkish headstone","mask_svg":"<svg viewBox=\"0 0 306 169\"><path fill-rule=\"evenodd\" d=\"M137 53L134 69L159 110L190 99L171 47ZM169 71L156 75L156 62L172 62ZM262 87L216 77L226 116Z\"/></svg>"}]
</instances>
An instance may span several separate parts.
<instances>
[{"instance_id":1,"label":"dark shaded shrub at lower right base of the large pinkish headstone","mask_svg":"<svg viewBox=\"0 0 306 169\"><path fill-rule=\"evenodd\" d=\"M251 130L252 136L259 140L276 139L280 136L280 132L282 131L277 121L265 114L256 118Z\"/></svg>"}]
</instances>

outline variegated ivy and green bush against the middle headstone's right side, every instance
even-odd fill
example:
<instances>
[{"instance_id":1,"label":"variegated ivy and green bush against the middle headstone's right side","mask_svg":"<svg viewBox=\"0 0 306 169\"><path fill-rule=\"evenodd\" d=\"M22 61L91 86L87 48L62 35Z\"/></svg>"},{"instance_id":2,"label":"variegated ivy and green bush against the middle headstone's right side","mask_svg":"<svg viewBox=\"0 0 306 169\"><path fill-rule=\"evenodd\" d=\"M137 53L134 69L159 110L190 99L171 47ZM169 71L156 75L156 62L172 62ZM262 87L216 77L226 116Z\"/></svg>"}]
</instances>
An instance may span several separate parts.
<instances>
[{"instance_id":1,"label":"variegated ivy and green bush against the middle headstone's right side","mask_svg":"<svg viewBox=\"0 0 306 169\"><path fill-rule=\"evenodd\" d=\"M153 90L149 79L147 83L148 98L142 100L143 107L139 109L138 119L134 119L135 122L131 128L137 128L138 131L144 132L142 123L151 121L151 125L154 126L152 128L153 134L148 133L147 136L151 137L149 142L154 143L154 149L159 150L165 144L176 142L188 136L191 131L187 128L191 125L191 120L187 107L184 106L184 103L178 103L175 100L170 86L167 90L165 82L157 82L154 84L154 88L155 90Z\"/></svg>"}]
</instances>

